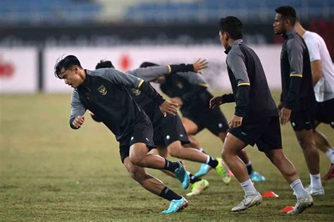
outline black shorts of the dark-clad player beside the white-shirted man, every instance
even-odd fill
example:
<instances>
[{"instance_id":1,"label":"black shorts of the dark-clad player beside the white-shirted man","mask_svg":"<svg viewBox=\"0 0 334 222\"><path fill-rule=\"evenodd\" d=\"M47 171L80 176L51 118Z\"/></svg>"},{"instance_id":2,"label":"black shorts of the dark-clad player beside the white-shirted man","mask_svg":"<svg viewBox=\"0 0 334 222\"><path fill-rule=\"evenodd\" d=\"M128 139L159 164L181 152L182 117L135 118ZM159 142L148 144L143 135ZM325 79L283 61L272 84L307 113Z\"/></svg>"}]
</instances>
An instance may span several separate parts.
<instances>
[{"instance_id":1,"label":"black shorts of the dark-clad player beside the white-shirted man","mask_svg":"<svg viewBox=\"0 0 334 222\"><path fill-rule=\"evenodd\" d=\"M292 111L290 116L290 123L293 130L295 131L313 130L315 123L314 109Z\"/></svg>"}]
</instances>

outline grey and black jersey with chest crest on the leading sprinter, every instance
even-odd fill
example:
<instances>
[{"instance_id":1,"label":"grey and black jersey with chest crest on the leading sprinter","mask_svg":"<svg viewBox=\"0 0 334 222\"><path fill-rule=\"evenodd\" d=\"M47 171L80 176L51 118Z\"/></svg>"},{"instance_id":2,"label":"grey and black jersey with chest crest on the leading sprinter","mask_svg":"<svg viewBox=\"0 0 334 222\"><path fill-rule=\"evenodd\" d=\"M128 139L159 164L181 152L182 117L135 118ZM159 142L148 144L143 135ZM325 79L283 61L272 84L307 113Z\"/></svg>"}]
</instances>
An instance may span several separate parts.
<instances>
[{"instance_id":1,"label":"grey and black jersey with chest crest on the leading sprinter","mask_svg":"<svg viewBox=\"0 0 334 222\"><path fill-rule=\"evenodd\" d=\"M86 78L73 91L71 98L70 126L76 116L83 116L89 109L99 116L101 121L120 141L129 136L132 126L146 119L147 115L130 96L126 87L140 88L144 80L133 75L126 75L113 68L86 70ZM144 88L147 89L147 88ZM156 92L145 93L152 96Z\"/></svg>"}]
</instances>

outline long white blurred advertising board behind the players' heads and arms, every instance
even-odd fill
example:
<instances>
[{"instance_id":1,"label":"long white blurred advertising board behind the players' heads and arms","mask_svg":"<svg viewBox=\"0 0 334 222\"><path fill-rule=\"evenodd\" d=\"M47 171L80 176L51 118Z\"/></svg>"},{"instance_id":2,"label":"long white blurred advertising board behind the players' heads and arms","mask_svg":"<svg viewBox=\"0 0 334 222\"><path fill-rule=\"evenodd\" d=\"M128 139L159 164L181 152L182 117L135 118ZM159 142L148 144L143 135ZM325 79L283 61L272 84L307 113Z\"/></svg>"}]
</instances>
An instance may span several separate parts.
<instances>
[{"instance_id":1,"label":"long white blurred advertising board behind the players' heads and arms","mask_svg":"<svg viewBox=\"0 0 334 222\"><path fill-rule=\"evenodd\" d=\"M264 66L269 87L280 89L279 45L252 47ZM44 51L44 92L70 92L72 89L54 76L54 65L59 57L73 54L83 68L94 70L100 60L110 60L118 70L132 70L144 61L161 65L172 63L193 63L198 58L209 61L209 68L203 70L204 78L211 90L230 90L230 81L225 63L226 54L219 45L199 46L127 46L127 47L52 47Z\"/></svg>"}]
</instances>

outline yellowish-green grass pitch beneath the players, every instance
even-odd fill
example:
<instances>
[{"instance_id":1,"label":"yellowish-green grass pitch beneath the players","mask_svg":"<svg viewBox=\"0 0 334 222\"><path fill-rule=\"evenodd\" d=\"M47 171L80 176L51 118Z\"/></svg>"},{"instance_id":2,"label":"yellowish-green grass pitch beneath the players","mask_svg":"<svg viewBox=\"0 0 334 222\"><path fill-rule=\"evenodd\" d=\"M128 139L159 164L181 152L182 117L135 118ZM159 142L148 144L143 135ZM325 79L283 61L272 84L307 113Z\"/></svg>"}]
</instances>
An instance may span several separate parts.
<instances>
[{"instance_id":1,"label":"yellowish-green grass pitch beneath the players","mask_svg":"<svg viewBox=\"0 0 334 222\"><path fill-rule=\"evenodd\" d=\"M275 94L277 98L277 94ZM266 182L256 183L260 192L272 190L280 197L242 213L230 209L243 197L235 178L224 185L214 171L206 175L210 187L190 206L174 215L162 215L168 202L151 195L133 181L120 162L118 144L104 125L86 115L80 130L70 130L70 95L0 95L0 221L334 221L334 179L323 181L326 196L303 214L288 216L279 211L294 205L295 197L276 168L258 152L247 147L256 171ZM233 105L223 106L228 119ZM334 133L319 127L330 143ZM285 154L297 167L304 185L309 174L304 156L289 125L282 128ZM219 156L221 142L204 130L199 142L212 156ZM322 152L321 175L329 161ZM195 172L199 164L186 162ZM168 187L185 195L177 180L149 170Z\"/></svg>"}]
</instances>

